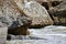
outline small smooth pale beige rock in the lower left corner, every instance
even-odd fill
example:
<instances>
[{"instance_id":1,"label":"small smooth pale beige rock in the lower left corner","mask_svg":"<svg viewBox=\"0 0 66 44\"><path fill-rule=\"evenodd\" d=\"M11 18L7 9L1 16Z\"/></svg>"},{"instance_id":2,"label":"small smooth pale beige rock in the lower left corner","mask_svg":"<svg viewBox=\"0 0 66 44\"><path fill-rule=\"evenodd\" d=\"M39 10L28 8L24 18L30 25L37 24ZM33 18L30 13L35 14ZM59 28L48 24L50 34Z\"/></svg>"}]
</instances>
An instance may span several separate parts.
<instances>
[{"instance_id":1,"label":"small smooth pale beige rock in the lower left corner","mask_svg":"<svg viewBox=\"0 0 66 44\"><path fill-rule=\"evenodd\" d=\"M0 44L4 44L7 41L8 28L0 28Z\"/></svg>"}]
</instances>

